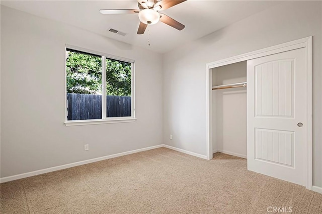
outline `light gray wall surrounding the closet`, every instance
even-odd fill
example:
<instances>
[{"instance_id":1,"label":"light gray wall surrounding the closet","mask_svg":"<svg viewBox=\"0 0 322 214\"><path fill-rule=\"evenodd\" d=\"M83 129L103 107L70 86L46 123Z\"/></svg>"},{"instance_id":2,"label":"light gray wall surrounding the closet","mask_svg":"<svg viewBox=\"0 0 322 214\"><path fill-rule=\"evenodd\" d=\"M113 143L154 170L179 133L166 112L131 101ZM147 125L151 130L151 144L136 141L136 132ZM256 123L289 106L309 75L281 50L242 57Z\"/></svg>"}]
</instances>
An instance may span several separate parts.
<instances>
[{"instance_id":1,"label":"light gray wall surrounding the closet","mask_svg":"<svg viewBox=\"0 0 322 214\"><path fill-rule=\"evenodd\" d=\"M313 36L313 185L322 187L320 1L284 2L167 53L164 143L206 155L206 63L307 36Z\"/></svg>"}]
</instances>

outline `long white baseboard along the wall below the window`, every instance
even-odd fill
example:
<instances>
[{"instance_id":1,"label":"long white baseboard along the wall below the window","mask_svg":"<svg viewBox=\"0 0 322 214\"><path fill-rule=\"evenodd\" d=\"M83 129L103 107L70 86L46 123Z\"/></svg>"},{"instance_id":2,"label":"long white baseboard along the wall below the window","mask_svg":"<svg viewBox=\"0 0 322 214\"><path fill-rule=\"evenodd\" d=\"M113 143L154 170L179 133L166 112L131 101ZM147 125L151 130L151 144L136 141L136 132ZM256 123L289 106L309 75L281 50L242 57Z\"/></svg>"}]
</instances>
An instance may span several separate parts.
<instances>
[{"instance_id":1,"label":"long white baseboard along the wall below the window","mask_svg":"<svg viewBox=\"0 0 322 214\"><path fill-rule=\"evenodd\" d=\"M23 174L3 177L3 178L0 178L0 183L13 181L13 180L18 180L18 179L21 179L21 178L31 177L31 176L35 176L35 175L40 175L40 174L44 174L44 173L48 173L48 172L61 170L61 169L67 169L67 168L70 168L70 167L84 165L84 164L88 164L88 163L93 163L93 162L97 162L97 161L101 161L101 160L107 160L107 159L111 159L111 158L116 158L116 157L129 155L129 154L133 154L133 153L137 153L137 152L143 152L143 151L156 149L156 148L160 148L160 147L164 147L164 144L160 144L160 145L156 145L156 146L150 146L150 147L146 147L146 148L142 148L142 149L136 149L136 150L132 150L132 151L128 151L128 152L121 152L121 153L117 153L117 154L113 154L113 155L107 155L107 156L103 156L103 157L99 157L99 158L93 158L93 159L84 160L84 161L78 161L78 162L74 162L74 163L64 164L64 165L61 165L61 166L54 166L54 167L50 167L50 168L46 168L46 169L40 169L40 170L27 172L27 173L23 173Z\"/></svg>"}]
</instances>

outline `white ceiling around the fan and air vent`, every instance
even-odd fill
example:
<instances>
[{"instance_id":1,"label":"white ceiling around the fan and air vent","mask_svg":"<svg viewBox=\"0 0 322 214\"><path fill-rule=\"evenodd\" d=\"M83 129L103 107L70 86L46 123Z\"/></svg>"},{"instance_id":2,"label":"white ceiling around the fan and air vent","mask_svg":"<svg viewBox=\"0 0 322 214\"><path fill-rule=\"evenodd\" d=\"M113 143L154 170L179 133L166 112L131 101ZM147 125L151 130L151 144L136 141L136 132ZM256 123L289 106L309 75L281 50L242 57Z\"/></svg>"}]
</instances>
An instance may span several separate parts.
<instances>
[{"instance_id":1,"label":"white ceiling around the fan and air vent","mask_svg":"<svg viewBox=\"0 0 322 214\"><path fill-rule=\"evenodd\" d=\"M138 9L137 1L1 1L1 5L40 17L64 22L94 33L141 46L159 53L215 32L241 19L278 4L276 1L201 1L188 0L163 11L186 26L178 31L164 23L148 26L137 35L137 14L102 15L100 9ZM109 28L127 35L108 32Z\"/></svg>"}]
</instances>

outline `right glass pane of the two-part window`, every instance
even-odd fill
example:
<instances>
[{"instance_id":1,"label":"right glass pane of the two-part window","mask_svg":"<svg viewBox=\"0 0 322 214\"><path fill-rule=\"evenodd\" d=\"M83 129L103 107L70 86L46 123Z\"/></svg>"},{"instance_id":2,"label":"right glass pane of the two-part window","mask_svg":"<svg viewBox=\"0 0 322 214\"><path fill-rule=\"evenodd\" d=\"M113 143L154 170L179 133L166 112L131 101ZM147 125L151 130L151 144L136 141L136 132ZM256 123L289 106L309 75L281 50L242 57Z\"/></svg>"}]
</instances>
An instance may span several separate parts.
<instances>
[{"instance_id":1,"label":"right glass pane of the two-part window","mask_svg":"<svg viewBox=\"0 0 322 214\"><path fill-rule=\"evenodd\" d=\"M131 63L106 59L106 117L131 116Z\"/></svg>"}]
</instances>

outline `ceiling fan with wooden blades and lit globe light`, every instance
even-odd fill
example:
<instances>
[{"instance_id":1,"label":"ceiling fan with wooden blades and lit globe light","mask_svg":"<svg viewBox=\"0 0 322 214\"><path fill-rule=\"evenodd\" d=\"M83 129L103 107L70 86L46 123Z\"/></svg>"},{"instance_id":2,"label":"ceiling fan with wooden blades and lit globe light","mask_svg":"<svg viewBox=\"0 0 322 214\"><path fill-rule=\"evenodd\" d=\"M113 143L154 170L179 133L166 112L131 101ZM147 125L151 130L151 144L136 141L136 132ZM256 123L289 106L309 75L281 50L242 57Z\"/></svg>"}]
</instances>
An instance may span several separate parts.
<instances>
[{"instance_id":1,"label":"ceiling fan with wooden blades and lit globe light","mask_svg":"<svg viewBox=\"0 0 322 214\"><path fill-rule=\"evenodd\" d=\"M137 34L143 34L148 25L156 24L158 21L163 22L171 27L174 27L181 31L185 26L169 16L158 13L158 11L164 11L175 5L183 3L187 0L137 0L138 8L136 9L112 9L112 10L100 10L101 14L138 14L140 19L139 29Z\"/></svg>"}]
</instances>

